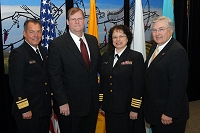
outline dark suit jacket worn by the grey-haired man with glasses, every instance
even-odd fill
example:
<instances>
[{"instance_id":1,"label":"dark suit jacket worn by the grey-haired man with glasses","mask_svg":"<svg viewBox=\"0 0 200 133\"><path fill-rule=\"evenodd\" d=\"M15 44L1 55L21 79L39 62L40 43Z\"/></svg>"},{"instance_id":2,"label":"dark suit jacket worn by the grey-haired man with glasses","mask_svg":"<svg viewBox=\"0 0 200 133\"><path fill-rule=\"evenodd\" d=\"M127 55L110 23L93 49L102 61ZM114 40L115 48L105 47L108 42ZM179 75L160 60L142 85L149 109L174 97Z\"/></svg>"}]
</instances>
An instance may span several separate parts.
<instances>
[{"instance_id":1,"label":"dark suit jacket worn by the grey-haired man with glasses","mask_svg":"<svg viewBox=\"0 0 200 133\"><path fill-rule=\"evenodd\" d=\"M162 125L161 115L173 118L173 124L189 118L186 94L188 57L182 45L172 38L148 67L146 60L144 113L148 123Z\"/></svg>"}]
</instances>

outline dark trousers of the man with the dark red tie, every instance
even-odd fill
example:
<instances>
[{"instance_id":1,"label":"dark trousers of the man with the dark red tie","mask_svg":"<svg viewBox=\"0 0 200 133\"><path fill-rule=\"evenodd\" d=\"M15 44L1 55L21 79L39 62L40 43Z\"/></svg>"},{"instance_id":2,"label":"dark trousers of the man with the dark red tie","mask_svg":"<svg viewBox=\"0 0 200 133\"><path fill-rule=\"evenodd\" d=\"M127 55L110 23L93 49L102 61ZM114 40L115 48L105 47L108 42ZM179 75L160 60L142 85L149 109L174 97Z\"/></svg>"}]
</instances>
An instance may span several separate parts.
<instances>
[{"instance_id":1,"label":"dark trousers of the man with the dark red tie","mask_svg":"<svg viewBox=\"0 0 200 133\"><path fill-rule=\"evenodd\" d=\"M94 106L91 106L87 116L64 116L56 112L61 133L95 133L97 115Z\"/></svg>"}]
</instances>

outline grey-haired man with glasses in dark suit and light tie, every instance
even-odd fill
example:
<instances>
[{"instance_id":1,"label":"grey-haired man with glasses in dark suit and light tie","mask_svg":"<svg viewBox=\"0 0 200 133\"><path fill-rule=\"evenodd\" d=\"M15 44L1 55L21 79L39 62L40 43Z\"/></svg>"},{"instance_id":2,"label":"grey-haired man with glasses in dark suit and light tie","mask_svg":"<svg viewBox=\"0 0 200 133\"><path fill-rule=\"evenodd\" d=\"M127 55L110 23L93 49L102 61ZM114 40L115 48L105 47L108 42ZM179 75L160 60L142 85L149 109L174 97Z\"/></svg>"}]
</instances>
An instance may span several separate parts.
<instances>
[{"instance_id":1,"label":"grey-haired man with glasses in dark suit and light tie","mask_svg":"<svg viewBox=\"0 0 200 133\"><path fill-rule=\"evenodd\" d=\"M169 18L153 20L152 36L157 44L146 60L144 95L145 120L153 133L184 133L189 118L189 62L182 45L172 37L173 31Z\"/></svg>"}]
</instances>

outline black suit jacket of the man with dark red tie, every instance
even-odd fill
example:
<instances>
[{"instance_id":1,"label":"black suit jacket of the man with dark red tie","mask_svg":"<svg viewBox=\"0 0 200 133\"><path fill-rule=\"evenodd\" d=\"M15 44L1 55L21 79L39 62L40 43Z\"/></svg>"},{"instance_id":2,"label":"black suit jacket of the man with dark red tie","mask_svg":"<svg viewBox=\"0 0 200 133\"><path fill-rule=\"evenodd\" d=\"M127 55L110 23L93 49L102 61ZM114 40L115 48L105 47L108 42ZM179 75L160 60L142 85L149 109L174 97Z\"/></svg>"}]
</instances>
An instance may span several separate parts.
<instances>
[{"instance_id":1,"label":"black suit jacket of the man with dark red tie","mask_svg":"<svg viewBox=\"0 0 200 133\"><path fill-rule=\"evenodd\" d=\"M69 33L55 38L49 45L48 70L56 111L68 103L70 115L86 116L93 104L99 109L97 72L101 55L96 37L84 35L90 50L90 69ZM92 103L91 103L92 102Z\"/></svg>"}]
</instances>

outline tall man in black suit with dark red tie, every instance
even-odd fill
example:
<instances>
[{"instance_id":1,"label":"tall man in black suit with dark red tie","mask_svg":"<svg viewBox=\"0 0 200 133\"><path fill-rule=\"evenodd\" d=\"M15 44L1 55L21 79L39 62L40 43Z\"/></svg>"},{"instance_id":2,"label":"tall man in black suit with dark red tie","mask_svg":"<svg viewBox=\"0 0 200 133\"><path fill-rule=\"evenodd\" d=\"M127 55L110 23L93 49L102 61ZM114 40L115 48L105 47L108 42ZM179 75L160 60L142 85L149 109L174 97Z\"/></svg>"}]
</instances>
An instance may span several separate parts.
<instances>
[{"instance_id":1,"label":"tall man in black suit with dark red tie","mask_svg":"<svg viewBox=\"0 0 200 133\"><path fill-rule=\"evenodd\" d=\"M99 109L97 72L101 55L98 41L83 32L85 18L81 9L68 11L67 24L69 32L49 45L48 70L54 111L61 133L94 133ZM81 54L80 38L86 46L87 62Z\"/></svg>"}]
</instances>

